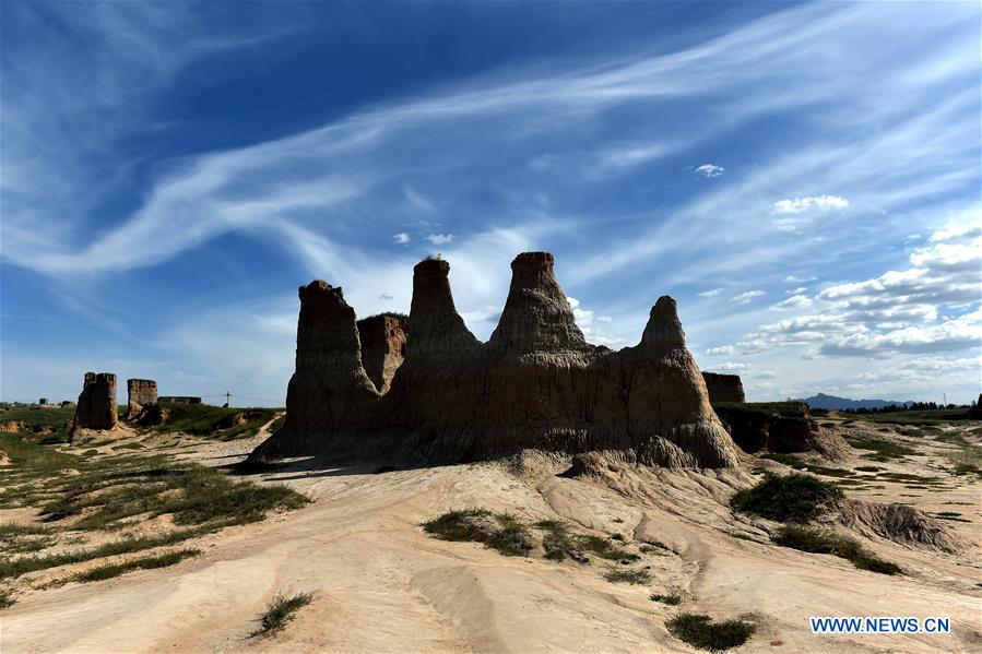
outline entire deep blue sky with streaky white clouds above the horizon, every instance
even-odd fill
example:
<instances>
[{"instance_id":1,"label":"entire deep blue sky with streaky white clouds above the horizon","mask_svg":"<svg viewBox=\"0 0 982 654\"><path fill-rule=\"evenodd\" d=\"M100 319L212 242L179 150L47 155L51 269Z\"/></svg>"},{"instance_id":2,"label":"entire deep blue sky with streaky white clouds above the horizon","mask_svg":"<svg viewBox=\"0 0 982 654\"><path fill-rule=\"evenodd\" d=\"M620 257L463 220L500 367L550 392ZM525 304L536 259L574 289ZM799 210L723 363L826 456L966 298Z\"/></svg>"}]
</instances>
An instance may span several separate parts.
<instances>
[{"instance_id":1,"label":"entire deep blue sky with streaky white clouds above the horizon","mask_svg":"<svg viewBox=\"0 0 982 654\"><path fill-rule=\"evenodd\" d=\"M0 4L0 397L282 404L296 288L679 304L752 400L980 390L977 3ZM125 393L121 393L121 396ZM218 397L210 397L217 401Z\"/></svg>"}]
</instances>

